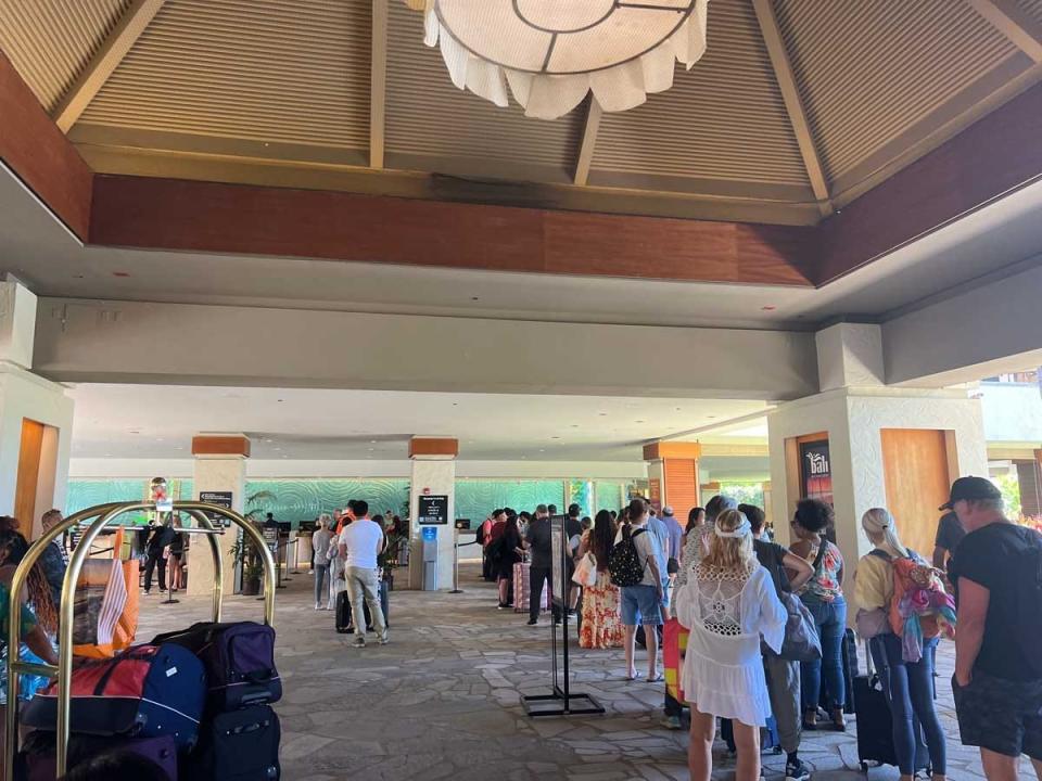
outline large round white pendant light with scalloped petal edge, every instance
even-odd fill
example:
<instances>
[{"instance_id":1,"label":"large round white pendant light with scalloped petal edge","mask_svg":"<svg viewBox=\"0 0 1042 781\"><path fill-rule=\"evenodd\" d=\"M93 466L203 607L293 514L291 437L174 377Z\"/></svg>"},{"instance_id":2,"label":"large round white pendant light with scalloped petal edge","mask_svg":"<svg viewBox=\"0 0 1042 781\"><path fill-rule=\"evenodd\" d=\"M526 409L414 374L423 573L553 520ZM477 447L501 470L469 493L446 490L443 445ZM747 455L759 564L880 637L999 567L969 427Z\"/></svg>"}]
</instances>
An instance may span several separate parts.
<instances>
[{"instance_id":1,"label":"large round white pendant light with scalloped petal edge","mask_svg":"<svg viewBox=\"0 0 1042 781\"><path fill-rule=\"evenodd\" d=\"M526 116L556 119L593 90L626 111L673 86L674 60L706 52L708 0L406 0L424 13L453 84Z\"/></svg>"}]
</instances>

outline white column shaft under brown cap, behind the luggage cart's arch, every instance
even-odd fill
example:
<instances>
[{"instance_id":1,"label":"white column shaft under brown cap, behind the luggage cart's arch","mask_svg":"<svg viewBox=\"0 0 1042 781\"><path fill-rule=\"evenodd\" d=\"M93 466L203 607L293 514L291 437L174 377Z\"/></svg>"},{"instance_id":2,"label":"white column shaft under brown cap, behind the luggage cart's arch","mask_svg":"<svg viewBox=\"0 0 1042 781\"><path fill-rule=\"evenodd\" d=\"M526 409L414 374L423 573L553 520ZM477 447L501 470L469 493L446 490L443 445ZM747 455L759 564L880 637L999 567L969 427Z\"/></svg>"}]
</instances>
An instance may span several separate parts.
<instances>
[{"instance_id":1,"label":"white column shaft under brown cap, behind the luggage cart's arch","mask_svg":"<svg viewBox=\"0 0 1042 781\"><path fill-rule=\"evenodd\" d=\"M206 454L195 457L193 471L193 490L195 500L201 491L230 491L231 509L242 512L246 490L246 458L242 454ZM223 592L234 592L234 556L232 548L239 535L238 527L232 526L228 533L218 537L221 556L225 562L225 580ZM202 537L191 540L191 553L188 561L188 593L209 594L214 589L214 564L209 543Z\"/></svg>"}]
</instances>

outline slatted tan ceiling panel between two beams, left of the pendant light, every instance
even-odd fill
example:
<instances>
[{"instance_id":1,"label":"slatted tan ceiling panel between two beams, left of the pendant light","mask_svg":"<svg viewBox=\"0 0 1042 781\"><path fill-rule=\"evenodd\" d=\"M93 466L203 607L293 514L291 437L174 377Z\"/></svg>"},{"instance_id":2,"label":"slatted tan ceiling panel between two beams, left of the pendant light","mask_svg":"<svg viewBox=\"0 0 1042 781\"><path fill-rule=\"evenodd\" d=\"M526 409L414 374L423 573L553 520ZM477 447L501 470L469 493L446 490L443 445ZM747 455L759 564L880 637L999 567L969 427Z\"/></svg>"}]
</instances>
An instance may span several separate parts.
<instances>
[{"instance_id":1,"label":"slatted tan ceiling panel between two beams, left of the pendant light","mask_svg":"<svg viewBox=\"0 0 1042 781\"><path fill-rule=\"evenodd\" d=\"M368 0L170 0L81 121L367 149Z\"/></svg>"}]
</instances>

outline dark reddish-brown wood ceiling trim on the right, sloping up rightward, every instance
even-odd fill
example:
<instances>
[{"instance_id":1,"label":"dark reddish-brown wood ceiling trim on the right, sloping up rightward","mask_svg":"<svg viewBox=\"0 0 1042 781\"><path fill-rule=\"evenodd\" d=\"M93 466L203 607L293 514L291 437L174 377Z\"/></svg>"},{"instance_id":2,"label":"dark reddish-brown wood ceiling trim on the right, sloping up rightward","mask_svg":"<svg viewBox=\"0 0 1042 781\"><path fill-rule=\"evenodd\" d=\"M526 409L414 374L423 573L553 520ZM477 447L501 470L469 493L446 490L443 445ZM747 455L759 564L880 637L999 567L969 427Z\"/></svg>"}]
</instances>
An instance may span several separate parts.
<instances>
[{"instance_id":1,"label":"dark reddish-brown wood ceiling trim on the right, sloping up rightward","mask_svg":"<svg viewBox=\"0 0 1042 781\"><path fill-rule=\"evenodd\" d=\"M818 228L818 285L1042 177L1042 85L979 119Z\"/></svg>"}]
</instances>

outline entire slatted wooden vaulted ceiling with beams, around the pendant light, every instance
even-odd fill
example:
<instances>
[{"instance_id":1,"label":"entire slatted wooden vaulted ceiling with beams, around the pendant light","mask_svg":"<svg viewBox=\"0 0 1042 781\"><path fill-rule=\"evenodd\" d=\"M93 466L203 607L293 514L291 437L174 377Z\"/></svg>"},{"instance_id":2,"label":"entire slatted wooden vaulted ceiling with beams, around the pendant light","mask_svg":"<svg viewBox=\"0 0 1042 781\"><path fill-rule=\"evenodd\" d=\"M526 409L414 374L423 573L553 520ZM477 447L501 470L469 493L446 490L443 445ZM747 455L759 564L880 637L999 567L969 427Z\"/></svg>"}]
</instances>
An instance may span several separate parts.
<instances>
[{"instance_id":1,"label":"entire slatted wooden vaulted ceiling with beams, around the pendant light","mask_svg":"<svg viewBox=\"0 0 1042 781\"><path fill-rule=\"evenodd\" d=\"M0 0L100 174L813 225L1042 79L1042 0L711 0L645 105L456 90L402 0Z\"/></svg>"}]
</instances>

